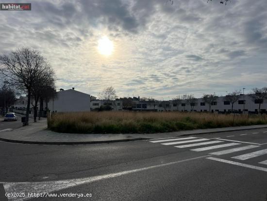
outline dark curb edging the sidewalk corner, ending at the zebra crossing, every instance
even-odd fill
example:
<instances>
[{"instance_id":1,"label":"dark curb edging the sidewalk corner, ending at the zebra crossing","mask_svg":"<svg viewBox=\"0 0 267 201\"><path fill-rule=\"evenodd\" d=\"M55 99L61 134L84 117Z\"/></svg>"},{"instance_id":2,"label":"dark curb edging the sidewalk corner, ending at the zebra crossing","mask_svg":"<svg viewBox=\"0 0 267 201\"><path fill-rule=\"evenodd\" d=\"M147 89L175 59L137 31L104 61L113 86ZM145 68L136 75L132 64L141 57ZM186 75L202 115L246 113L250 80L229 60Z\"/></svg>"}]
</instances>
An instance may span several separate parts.
<instances>
[{"instance_id":1,"label":"dark curb edging the sidewalk corner, ending at the zebra crossing","mask_svg":"<svg viewBox=\"0 0 267 201\"><path fill-rule=\"evenodd\" d=\"M141 141L150 139L151 138L133 138L133 139L123 139L123 140L85 141L85 142L37 142L37 141L23 141L23 140L11 140L11 139L0 138L0 141L9 143L18 143L18 144L30 144L30 145L90 145L90 144L131 142L131 141Z\"/></svg>"}]
</instances>

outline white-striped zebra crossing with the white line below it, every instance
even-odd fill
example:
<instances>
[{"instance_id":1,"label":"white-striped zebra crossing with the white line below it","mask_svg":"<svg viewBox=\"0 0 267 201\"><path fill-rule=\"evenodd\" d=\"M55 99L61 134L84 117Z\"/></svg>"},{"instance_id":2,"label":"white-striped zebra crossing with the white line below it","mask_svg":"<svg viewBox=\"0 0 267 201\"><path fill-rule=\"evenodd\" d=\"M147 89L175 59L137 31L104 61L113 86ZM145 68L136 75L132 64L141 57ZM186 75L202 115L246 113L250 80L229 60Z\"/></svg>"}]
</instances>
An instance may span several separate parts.
<instances>
[{"instance_id":1,"label":"white-striped zebra crossing with the white line below it","mask_svg":"<svg viewBox=\"0 0 267 201\"><path fill-rule=\"evenodd\" d=\"M209 154L215 155L217 157L227 154L237 154L231 157L231 160L225 160L215 157L207 157L207 159L218 161L222 163L235 164L239 166L249 167L252 169L267 171L267 167L255 166L250 164L243 164L239 162L232 161L245 161L252 158L256 158L262 155L267 155L267 149L260 149L261 145L258 143L250 143L236 140L228 140L221 138L199 138L199 137L177 137L177 138L165 138L165 139L153 139L149 141L150 143L157 143L163 146L173 146L175 148L189 148L190 151L210 151ZM248 145L250 144L250 145ZM216 150L220 149L220 150ZM223 149L223 150L221 150ZM245 152L240 154L241 152ZM248 153L249 152L249 153ZM257 162L260 165L267 165L267 160Z\"/></svg>"}]
</instances>

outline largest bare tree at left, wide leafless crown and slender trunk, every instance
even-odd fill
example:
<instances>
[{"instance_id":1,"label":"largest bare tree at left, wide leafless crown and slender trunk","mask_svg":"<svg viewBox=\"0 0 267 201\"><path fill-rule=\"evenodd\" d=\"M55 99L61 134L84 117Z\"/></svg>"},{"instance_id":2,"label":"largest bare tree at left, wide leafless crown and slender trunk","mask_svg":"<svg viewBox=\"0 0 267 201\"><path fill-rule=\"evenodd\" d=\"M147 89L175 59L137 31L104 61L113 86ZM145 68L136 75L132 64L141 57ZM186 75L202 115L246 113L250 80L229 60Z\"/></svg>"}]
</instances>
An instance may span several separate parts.
<instances>
[{"instance_id":1,"label":"largest bare tree at left, wide leafless crown and slender trunk","mask_svg":"<svg viewBox=\"0 0 267 201\"><path fill-rule=\"evenodd\" d=\"M0 56L0 73L11 85L27 94L26 125L29 124L33 83L44 71L45 63L46 59L40 52L30 48L18 48L9 55Z\"/></svg>"}]
</instances>

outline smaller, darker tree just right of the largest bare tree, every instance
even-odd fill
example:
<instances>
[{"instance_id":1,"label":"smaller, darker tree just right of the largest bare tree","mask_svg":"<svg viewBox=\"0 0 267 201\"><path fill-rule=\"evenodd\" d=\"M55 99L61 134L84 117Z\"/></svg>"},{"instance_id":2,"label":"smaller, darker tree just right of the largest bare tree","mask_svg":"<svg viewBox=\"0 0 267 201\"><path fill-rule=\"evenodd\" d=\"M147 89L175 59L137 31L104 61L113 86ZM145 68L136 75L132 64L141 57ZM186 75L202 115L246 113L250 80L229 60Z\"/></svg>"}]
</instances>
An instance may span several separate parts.
<instances>
[{"instance_id":1,"label":"smaller, darker tree just right of the largest bare tree","mask_svg":"<svg viewBox=\"0 0 267 201\"><path fill-rule=\"evenodd\" d=\"M38 102L40 101L40 105L41 105L41 99L43 101L43 97L46 94L47 89L55 87L54 71L50 68L50 66L47 63L44 64L44 68L45 70L40 74L39 77L37 77L34 80L33 86L32 86L32 97L33 97L32 105L33 105L33 111L34 111L34 114L33 114L34 122L36 122Z\"/></svg>"}]
</instances>

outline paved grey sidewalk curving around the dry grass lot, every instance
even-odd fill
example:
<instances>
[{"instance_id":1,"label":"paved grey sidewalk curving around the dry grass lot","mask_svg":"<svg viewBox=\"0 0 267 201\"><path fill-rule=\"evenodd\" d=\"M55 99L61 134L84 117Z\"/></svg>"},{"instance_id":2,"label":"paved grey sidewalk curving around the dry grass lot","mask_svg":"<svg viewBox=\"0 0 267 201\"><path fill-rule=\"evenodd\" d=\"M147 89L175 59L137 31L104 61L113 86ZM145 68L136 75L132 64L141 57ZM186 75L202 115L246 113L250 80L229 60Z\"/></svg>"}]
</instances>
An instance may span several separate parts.
<instances>
[{"instance_id":1,"label":"paved grey sidewalk curving around the dry grass lot","mask_svg":"<svg viewBox=\"0 0 267 201\"><path fill-rule=\"evenodd\" d=\"M171 138L186 135L217 133L225 131L247 130L255 128L267 128L267 125L228 127L228 128L210 128L184 130L169 133L152 134L73 134L57 133L47 129L47 120L43 119L30 126L17 128L11 131L1 131L0 141L40 144L40 145L79 145L79 144L100 144L115 143L137 140L149 140L154 138Z\"/></svg>"}]
</instances>

